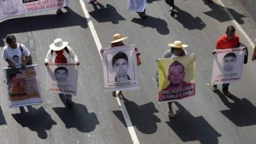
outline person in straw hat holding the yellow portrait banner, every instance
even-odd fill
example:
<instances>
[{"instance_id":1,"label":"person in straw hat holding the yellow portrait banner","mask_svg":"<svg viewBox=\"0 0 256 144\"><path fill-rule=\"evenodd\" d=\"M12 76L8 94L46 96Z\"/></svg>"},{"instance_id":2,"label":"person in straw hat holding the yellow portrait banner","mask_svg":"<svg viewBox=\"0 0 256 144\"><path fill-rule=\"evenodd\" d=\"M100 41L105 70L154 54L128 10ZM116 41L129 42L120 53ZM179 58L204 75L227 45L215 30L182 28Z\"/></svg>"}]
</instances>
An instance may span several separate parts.
<instances>
[{"instance_id":1,"label":"person in straw hat holding the yellow portrait banner","mask_svg":"<svg viewBox=\"0 0 256 144\"><path fill-rule=\"evenodd\" d=\"M187 56L188 53L183 49L188 47L186 44L182 44L179 40L173 42L173 44L168 44L171 48L164 52L162 58L179 58L180 56ZM156 74L157 84L158 84L158 72ZM174 113L172 109L172 103L168 102L168 115L170 118L174 118Z\"/></svg>"}]
</instances>

